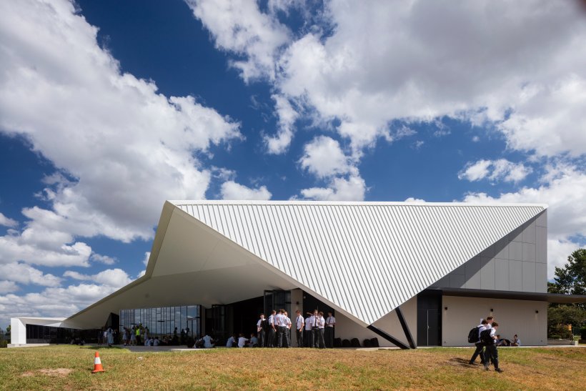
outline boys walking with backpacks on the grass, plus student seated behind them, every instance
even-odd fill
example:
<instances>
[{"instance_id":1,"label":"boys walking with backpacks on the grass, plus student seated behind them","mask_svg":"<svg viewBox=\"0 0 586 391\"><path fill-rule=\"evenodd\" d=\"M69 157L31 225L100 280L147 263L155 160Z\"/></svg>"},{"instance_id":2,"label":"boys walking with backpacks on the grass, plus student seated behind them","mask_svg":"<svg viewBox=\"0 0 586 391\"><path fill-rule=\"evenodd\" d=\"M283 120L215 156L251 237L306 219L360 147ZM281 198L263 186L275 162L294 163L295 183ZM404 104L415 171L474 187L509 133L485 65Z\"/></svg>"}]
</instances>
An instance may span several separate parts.
<instances>
[{"instance_id":1,"label":"boys walking with backpacks on the grass, plus student seated behind them","mask_svg":"<svg viewBox=\"0 0 586 391\"><path fill-rule=\"evenodd\" d=\"M487 317L476 327L478 338L475 342L476 350L470 358L470 365L474 365L476 357L480 356L480 362L484 365L485 370L490 370L490 363L495 366L496 372L503 372L499 367L498 346L521 346L521 340L515 334L512 342L504 340L497 335L499 324L495 322L495 317ZM472 331L471 331L472 332ZM505 342L506 341L506 342ZM508 342L508 343L507 343Z\"/></svg>"}]
</instances>

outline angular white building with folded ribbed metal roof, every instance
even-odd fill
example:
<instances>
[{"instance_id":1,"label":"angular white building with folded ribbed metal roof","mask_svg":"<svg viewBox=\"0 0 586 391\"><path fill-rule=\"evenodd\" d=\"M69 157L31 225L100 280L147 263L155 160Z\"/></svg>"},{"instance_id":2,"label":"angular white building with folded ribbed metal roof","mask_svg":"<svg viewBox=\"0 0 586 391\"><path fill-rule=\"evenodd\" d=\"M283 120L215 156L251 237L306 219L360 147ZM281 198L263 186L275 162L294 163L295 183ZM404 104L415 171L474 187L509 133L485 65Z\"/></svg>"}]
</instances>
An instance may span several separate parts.
<instances>
[{"instance_id":1,"label":"angular white building with folded ribbed metal roof","mask_svg":"<svg viewBox=\"0 0 586 391\"><path fill-rule=\"evenodd\" d=\"M223 338L282 307L381 346L469 345L488 315L546 345L547 303L584 299L547 294L543 204L171 201L143 277L63 320L13 318L11 342L138 323Z\"/></svg>"}]
</instances>

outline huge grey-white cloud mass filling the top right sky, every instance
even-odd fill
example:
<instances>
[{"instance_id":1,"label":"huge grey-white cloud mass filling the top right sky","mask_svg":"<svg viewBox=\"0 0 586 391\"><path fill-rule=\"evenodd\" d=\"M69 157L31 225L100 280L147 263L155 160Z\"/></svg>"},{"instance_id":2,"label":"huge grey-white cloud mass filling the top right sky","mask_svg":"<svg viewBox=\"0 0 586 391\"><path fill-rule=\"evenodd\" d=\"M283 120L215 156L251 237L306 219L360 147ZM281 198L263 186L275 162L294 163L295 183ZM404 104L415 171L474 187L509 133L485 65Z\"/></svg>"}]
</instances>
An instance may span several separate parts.
<instances>
[{"instance_id":1,"label":"huge grey-white cloud mass filling the top right sky","mask_svg":"<svg viewBox=\"0 0 586 391\"><path fill-rule=\"evenodd\" d=\"M277 94L338 124L355 150L388 139L394 120L452 117L495 124L515 149L586 152L578 1L332 0L302 13L306 24L295 37L274 12L294 2L266 12L255 2L247 10L242 1L188 3L217 46L244 55L245 80L264 75Z\"/></svg>"}]
</instances>

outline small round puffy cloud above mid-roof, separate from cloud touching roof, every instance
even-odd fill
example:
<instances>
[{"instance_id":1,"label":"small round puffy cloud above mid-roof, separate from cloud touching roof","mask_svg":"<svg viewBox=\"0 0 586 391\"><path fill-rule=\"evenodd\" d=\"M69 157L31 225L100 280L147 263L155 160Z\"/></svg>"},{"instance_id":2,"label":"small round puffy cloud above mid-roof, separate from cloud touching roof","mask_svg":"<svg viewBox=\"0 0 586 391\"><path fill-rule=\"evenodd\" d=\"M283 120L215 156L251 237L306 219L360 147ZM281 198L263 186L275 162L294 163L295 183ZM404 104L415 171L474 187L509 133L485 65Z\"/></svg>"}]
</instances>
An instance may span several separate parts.
<instances>
[{"instance_id":1,"label":"small round puffy cloud above mid-roof, separate from cloud touching roof","mask_svg":"<svg viewBox=\"0 0 586 391\"><path fill-rule=\"evenodd\" d=\"M327 136L315 137L305 144L299 164L318 178L357 172L342 152L339 142Z\"/></svg>"}]
</instances>

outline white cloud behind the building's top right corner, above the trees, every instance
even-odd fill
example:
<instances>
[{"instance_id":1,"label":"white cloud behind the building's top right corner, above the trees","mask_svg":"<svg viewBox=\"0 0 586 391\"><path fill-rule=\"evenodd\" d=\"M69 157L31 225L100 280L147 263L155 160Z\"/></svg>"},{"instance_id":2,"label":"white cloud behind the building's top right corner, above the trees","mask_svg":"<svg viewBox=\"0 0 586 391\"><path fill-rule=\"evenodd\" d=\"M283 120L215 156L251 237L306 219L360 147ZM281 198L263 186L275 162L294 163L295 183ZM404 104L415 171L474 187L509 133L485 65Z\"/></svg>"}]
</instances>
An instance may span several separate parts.
<instances>
[{"instance_id":1,"label":"white cloud behind the building's top right corner, above the trees","mask_svg":"<svg viewBox=\"0 0 586 391\"><path fill-rule=\"evenodd\" d=\"M548 278L552 278L553 267L565 263L567 255L585 244L572 242L571 238L586 237L586 173L571 165L550 165L546 167L542 182L539 187L523 187L518 192L500 194L499 197L470 193L465 201L549 204L547 258L550 261Z\"/></svg>"}]
</instances>

